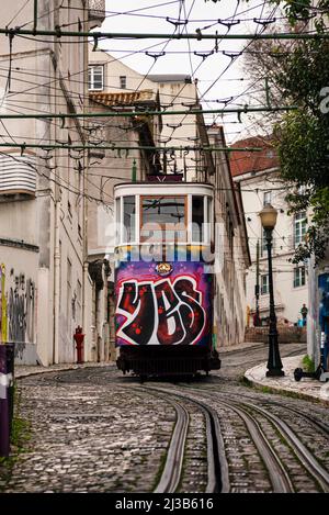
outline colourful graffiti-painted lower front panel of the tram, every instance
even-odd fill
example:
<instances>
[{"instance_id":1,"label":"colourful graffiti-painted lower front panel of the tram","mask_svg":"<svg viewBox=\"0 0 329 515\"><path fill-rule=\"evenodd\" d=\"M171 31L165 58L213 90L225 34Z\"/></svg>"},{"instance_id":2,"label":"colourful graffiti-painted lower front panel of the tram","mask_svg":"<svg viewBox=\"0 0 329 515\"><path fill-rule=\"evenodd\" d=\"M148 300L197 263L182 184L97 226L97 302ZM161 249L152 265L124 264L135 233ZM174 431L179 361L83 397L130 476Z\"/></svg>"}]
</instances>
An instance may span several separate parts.
<instances>
[{"instance_id":1,"label":"colourful graffiti-painted lower front panel of the tram","mask_svg":"<svg viewBox=\"0 0 329 515\"><path fill-rule=\"evenodd\" d=\"M137 275L132 275L132 267L137 267ZM180 262L173 268L166 279L159 277L156 264L131 264L120 269L117 345L203 345L207 342L211 286L203 266Z\"/></svg>"}]
</instances>

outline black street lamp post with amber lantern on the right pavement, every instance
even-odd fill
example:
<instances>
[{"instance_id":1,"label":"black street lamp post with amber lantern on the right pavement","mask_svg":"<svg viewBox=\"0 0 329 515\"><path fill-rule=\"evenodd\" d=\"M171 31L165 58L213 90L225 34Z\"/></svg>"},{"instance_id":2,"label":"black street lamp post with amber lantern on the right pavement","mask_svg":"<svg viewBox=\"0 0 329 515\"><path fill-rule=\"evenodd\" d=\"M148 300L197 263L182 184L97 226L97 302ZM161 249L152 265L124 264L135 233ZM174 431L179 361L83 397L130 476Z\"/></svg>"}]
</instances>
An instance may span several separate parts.
<instances>
[{"instance_id":1,"label":"black street lamp post with amber lantern on the right pavement","mask_svg":"<svg viewBox=\"0 0 329 515\"><path fill-rule=\"evenodd\" d=\"M269 360L266 377L284 376L279 351L276 315L274 309L273 270L272 270L272 232L276 224L277 211L271 204L265 204L259 213L265 233L269 260L269 292L270 292L270 331L269 331Z\"/></svg>"}]
</instances>

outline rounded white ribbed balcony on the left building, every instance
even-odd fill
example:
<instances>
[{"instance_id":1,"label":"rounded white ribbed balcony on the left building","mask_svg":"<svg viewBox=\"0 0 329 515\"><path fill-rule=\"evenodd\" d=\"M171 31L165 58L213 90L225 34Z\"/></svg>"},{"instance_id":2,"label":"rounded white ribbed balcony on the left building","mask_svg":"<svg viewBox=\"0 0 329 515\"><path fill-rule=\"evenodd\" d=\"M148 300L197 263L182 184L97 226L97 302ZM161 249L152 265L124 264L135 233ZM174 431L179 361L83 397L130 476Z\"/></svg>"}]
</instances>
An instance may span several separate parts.
<instances>
[{"instance_id":1,"label":"rounded white ribbed balcony on the left building","mask_svg":"<svg viewBox=\"0 0 329 515\"><path fill-rule=\"evenodd\" d=\"M35 157L18 153L0 155L0 201L7 195L34 197L36 189Z\"/></svg>"}]
</instances>

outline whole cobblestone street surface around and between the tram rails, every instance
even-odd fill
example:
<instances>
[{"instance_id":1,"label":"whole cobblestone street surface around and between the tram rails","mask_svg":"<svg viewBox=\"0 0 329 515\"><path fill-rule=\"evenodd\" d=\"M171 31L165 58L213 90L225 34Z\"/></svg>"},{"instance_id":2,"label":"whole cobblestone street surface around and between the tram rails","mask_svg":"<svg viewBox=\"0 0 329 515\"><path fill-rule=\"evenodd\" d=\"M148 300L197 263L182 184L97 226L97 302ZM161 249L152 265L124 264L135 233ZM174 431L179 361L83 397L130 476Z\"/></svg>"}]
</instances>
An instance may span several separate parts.
<instances>
[{"instance_id":1,"label":"whole cobblestone street surface around and between the tram rails","mask_svg":"<svg viewBox=\"0 0 329 515\"><path fill-rule=\"evenodd\" d=\"M302 348L300 344L286 345L282 347L282 355L293 356ZM193 405L195 400L206 400L218 414L231 491L271 491L258 446L252 444L254 437L250 439L243 418L237 418L235 411L228 410L226 404L230 400L232 406L238 407L237 402L245 398L268 410L272 403L272 412L282 416L280 395L275 395L279 399L276 405L271 395L247 389L239 381L243 370L263 361L265 354L263 345L223 352L222 370L209 378L201 377L192 384L150 380L140 385L138 378L123 377L112 365L22 378L16 407L19 416L30 424L31 437L14 462L12 473L8 474L3 466L0 469L0 489L36 493L152 492L161 475L177 422L173 396L183 399L186 392L192 392L184 401L190 422L185 470L179 491L203 492L206 488L205 414ZM296 399L286 399L285 405L285 411L293 413L291 427L297 432L303 429L305 445L327 467L326 439L320 433L316 435L314 428L308 428L306 421L299 422L294 415L296 410L309 413L306 415L309 417L316 414L328 424L326 407ZM283 444L272 436L269 421L260 419L260 424L264 424L263 430L281 454ZM288 460L292 471L298 472L298 491L317 491L287 450L283 452L283 459Z\"/></svg>"}]
</instances>

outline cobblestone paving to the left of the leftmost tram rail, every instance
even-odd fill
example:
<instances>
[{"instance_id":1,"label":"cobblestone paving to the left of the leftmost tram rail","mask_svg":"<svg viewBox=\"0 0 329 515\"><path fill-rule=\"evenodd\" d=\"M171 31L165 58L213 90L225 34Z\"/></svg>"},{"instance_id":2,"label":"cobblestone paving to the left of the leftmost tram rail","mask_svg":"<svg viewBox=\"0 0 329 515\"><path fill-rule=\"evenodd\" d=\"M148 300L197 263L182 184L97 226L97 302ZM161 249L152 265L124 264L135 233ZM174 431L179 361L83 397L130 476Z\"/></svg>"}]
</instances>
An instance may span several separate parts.
<instances>
[{"instance_id":1,"label":"cobblestone paving to the left of the leftmost tram rail","mask_svg":"<svg viewBox=\"0 0 329 515\"><path fill-rule=\"evenodd\" d=\"M11 478L2 474L0 491L147 492L154 486L173 407L133 388L94 383L90 369L81 373L75 382L75 372L72 383L49 374L23 379L20 416L30 421L32 438Z\"/></svg>"}]
</instances>

